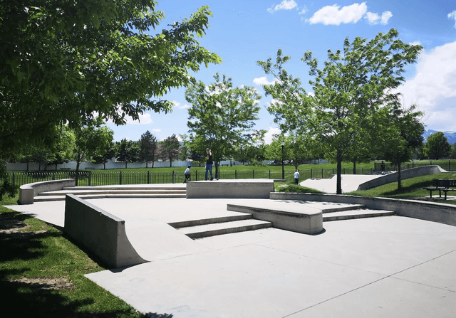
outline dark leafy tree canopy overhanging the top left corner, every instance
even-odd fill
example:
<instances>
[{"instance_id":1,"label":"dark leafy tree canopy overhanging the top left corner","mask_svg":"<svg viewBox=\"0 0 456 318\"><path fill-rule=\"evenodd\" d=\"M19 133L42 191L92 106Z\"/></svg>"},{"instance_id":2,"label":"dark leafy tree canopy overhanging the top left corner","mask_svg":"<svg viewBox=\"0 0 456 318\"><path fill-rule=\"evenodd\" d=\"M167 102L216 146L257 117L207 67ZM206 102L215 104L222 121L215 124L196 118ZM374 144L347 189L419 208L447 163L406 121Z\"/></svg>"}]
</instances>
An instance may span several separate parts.
<instances>
[{"instance_id":1,"label":"dark leafy tree canopy overhanging the top left corner","mask_svg":"<svg viewBox=\"0 0 456 318\"><path fill-rule=\"evenodd\" d=\"M53 141L56 124L168 112L171 88L219 63L197 42L209 8L155 31L153 0L0 0L0 150Z\"/></svg>"}]
</instances>

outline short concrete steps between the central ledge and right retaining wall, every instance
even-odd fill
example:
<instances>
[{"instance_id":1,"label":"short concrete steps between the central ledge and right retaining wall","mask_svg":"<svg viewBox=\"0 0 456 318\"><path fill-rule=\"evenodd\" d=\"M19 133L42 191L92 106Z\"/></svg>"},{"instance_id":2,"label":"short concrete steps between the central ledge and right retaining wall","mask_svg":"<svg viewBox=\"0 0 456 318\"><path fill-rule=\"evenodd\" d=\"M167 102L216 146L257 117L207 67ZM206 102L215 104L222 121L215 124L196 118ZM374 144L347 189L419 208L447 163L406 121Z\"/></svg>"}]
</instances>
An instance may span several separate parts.
<instances>
[{"instance_id":1,"label":"short concrete steps between the central ledge and right retaining wall","mask_svg":"<svg viewBox=\"0 0 456 318\"><path fill-rule=\"evenodd\" d=\"M343 208L325 209L323 210L323 222L353 220L356 218L377 218L380 216L394 215L394 211L370 210L361 204Z\"/></svg>"}]
</instances>

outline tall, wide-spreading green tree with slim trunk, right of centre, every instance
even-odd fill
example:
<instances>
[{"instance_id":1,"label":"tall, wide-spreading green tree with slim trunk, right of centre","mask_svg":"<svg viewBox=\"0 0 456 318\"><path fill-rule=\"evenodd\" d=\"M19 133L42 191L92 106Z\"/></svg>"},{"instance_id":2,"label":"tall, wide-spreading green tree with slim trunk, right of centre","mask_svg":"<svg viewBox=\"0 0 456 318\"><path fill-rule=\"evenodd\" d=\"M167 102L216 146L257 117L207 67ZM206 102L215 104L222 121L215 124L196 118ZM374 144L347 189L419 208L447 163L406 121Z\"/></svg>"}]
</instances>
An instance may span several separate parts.
<instances>
[{"instance_id":1,"label":"tall, wide-spreading green tree with slim trunk, right of centre","mask_svg":"<svg viewBox=\"0 0 456 318\"><path fill-rule=\"evenodd\" d=\"M301 60L310 68L311 94L284 69L290 57L281 50L275 61L258 62L277 79L274 85L264 85L266 95L274 98L269 112L284 132L308 134L324 144L326 156L337 163L337 194L342 193L342 162L356 157L353 142L357 135L381 133L372 129L377 117L384 115L378 110L399 107L398 88L405 80L405 67L415 63L421 50L421 46L400 41L398 31L391 29L369 41L346 38L342 50L328 50L323 68L318 68L318 60L308 51Z\"/></svg>"}]
</instances>

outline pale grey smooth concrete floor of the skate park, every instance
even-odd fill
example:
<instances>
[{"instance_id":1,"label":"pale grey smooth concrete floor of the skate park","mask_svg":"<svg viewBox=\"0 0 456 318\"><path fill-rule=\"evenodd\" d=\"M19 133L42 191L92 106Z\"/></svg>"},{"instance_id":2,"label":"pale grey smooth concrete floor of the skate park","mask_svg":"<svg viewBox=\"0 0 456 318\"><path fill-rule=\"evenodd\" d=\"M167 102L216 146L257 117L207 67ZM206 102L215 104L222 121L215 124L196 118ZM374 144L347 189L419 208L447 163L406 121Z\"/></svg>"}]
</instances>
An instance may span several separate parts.
<instances>
[{"instance_id":1,"label":"pale grey smooth concrete floor of the skate park","mask_svg":"<svg viewBox=\"0 0 456 318\"><path fill-rule=\"evenodd\" d=\"M87 200L125 220L149 262L86 276L149 317L456 317L454 226L388 216L192 240L167 225L252 200ZM63 226L64 204L8 207Z\"/></svg>"}]
</instances>

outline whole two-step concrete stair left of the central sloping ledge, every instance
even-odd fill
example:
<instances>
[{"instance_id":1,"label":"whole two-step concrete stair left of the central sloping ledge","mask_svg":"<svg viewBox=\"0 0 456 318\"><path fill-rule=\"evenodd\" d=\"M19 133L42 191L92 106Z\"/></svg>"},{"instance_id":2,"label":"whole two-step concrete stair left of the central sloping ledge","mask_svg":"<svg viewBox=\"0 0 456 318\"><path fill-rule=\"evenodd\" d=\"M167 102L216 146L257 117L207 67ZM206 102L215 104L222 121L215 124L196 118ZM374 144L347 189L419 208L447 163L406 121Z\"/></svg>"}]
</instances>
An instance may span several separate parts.
<instances>
[{"instance_id":1,"label":"whole two-step concrete stair left of the central sloping ledge","mask_svg":"<svg viewBox=\"0 0 456 318\"><path fill-rule=\"evenodd\" d=\"M252 218L252 214L248 213L240 213L239 216L207 218L169 224L193 239L272 227L271 222L255 220Z\"/></svg>"}]
</instances>

